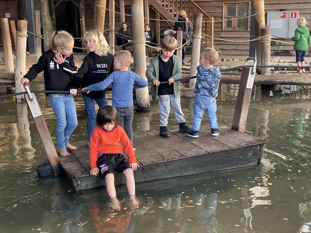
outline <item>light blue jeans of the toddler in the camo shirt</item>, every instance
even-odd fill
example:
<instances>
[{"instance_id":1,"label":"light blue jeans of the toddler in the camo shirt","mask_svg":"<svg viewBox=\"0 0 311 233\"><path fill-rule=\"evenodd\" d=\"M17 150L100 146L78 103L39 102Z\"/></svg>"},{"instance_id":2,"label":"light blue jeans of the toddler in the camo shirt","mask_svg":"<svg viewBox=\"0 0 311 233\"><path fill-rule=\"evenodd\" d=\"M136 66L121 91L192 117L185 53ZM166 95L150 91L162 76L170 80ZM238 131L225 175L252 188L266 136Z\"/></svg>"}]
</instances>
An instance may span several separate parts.
<instances>
[{"instance_id":1,"label":"light blue jeans of the toddler in the camo shirt","mask_svg":"<svg viewBox=\"0 0 311 233\"><path fill-rule=\"evenodd\" d=\"M217 110L216 99L215 98L208 99L196 95L194 98L194 106L193 106L193 124L192 124L193 131L200 130L204 110L207 110L206 116L210 120L210 128L211 129L218 128L216 117L216 110Z\"/></svg>"}]
</instances>

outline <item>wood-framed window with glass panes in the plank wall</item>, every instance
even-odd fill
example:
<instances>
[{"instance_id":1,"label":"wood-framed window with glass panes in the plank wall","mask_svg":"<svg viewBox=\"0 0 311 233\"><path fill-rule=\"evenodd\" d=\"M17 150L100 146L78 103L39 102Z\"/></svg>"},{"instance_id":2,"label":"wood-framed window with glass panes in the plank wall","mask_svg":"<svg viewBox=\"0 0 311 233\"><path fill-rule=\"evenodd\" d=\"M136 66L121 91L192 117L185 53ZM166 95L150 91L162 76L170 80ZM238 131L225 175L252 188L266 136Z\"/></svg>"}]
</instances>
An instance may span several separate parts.
<instances>
[{"instance_id":1,"label":"wood-framed window with glass panes in the plank wall","mask_svg":"<svg viewBox=\"0 0 311 233\"><path fill-rule=\"evenodd\" d=\"M249 2L224 3L224 30L248 30Z\"/></svg>"}]
</instances>

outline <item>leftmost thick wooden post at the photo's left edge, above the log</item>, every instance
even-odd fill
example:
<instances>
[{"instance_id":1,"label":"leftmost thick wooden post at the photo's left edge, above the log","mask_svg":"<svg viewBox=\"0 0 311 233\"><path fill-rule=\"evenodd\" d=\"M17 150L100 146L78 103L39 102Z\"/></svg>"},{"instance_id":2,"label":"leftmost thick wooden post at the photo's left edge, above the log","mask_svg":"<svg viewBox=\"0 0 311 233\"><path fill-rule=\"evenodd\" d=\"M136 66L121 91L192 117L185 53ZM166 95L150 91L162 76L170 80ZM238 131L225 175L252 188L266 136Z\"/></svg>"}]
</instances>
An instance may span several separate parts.
<instances>
[{"instance_id":1,"label":"leftmost thick wooden post at the photo's left edge, above the log","mask_svg":"<svg viewBox=\"0 0 311 233\"><path fill-rule=\"evenodd\" d=\"M2 38L3 49L4 49L5 71L13 73L14 63L13 63L13 55L12 55L12 42L11 42L10 29L9 29L9 21L7 20L7 18L0 19L0 27L1 27L1 38Z\"/></svg>"}]
</instances>

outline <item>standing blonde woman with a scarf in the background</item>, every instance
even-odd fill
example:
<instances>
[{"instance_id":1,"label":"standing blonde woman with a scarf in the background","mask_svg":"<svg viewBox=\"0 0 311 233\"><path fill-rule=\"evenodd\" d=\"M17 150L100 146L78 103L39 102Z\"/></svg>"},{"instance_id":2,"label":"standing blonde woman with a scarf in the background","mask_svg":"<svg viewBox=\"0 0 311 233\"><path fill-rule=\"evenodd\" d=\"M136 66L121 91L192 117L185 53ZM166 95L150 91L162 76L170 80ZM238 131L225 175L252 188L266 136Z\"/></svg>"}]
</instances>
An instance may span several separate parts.
<instances>
[{"instance_id":1,"label":"standing blonde woman with a scarf in the background","mask_svg":"<svg viewBox=\"0 0 311 233\"><path fill-rule=\"evenodd\" d=\"M186 11L184 10L180 11L178 22L175 22L174 33L176 33L176 31L178 30L183 31L183 44L186 43L190 38L192 27L191 24L189 23ZM190 41L188 41L186 45L190 45ZM185 62L186 45L184 45L184 47L182 48L182 64L186 64Z\"/></svg>"}]
</instances>

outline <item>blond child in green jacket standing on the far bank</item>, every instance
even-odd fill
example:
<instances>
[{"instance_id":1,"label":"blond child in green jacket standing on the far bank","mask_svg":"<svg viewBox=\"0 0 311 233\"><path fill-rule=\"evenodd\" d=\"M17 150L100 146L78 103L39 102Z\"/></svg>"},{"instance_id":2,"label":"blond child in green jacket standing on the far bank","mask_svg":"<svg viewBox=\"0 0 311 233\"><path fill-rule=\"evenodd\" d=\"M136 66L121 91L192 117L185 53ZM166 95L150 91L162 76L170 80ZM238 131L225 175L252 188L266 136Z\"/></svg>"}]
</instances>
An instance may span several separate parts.
<instances>
[{"instance_id":1,"label":"blond child in green jacket standing on the far bank","mask_svg":"<svg viewBox=\"0 0 311 233\"><path fill-rule=\"evenodd\" d=\"M303 17L298 18L298 28L295 30L295 36L291 38L292 41L295 41L294 49L296 50L296 62L299 74L306 72L304 68L299 68L299 66L304 66L304 55L310 45L310 34L305 25L306 20Z\"/></svg>"}]
</instances>

